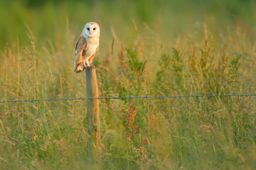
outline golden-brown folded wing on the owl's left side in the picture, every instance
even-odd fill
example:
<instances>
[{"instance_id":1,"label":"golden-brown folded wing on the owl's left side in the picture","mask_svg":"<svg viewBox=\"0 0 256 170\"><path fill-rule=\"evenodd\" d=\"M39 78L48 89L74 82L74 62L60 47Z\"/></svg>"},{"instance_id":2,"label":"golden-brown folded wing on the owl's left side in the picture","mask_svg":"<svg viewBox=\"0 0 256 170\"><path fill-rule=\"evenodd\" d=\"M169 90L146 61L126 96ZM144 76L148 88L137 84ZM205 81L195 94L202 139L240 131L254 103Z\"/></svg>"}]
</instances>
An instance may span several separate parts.
<instances>
[{"instance_id":1,"label":"golden-brown folded wing on the owl's left side in the picture","mask_svg":"<svg viewBox=\"0 0 256 170\"><path fill-rule=\"evenodd\" d=\"M78 68L81 67L80 63L81 60L83 59L83 57L85 56L85 52L87 50L88 44L86 41L85 36L80 36L78 38L77 44L75 46L75 61L74 61L74 72L75 73L79 73L82 71L82 68Z\"/></svg>"}]
</instances>

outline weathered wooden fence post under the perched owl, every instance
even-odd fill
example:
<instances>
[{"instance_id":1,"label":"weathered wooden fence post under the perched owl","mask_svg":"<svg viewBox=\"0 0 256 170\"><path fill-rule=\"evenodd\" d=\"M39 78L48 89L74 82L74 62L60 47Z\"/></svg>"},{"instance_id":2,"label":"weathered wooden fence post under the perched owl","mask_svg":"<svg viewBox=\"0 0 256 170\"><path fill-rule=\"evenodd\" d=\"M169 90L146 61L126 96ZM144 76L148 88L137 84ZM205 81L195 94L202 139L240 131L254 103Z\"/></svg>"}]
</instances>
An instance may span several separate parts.
<instances>
[{"instance_id":1,"label":"weathered wooden fence post under the perched owl","mask_svg":"<svg viewBox=\"0 0 256 170\"><path fill-rule=\"evenodd\" d=\"M85 70L87 93L87 124L88 124L88 152L92 162L100 163L101 138L99 121L99 97L96 67L90 66Z\"/></svg>"}]
</instances>

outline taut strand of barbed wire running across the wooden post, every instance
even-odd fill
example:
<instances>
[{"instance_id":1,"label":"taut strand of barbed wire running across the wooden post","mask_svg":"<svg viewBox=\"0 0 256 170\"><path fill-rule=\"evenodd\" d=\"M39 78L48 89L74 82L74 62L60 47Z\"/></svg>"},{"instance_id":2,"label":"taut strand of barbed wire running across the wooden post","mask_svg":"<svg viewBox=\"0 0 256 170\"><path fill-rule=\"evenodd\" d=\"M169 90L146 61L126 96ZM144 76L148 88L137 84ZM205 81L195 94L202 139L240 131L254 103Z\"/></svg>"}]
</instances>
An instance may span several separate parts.
<instances>
[{"instance_id":1,"label":"taut strand of barbed wire running across the wooden post","mask_svg":"<svg viewBox=\"0 0 256 170\"><path fill-rule=\"evenodd\" d=\"M145 97L95 97L88 99L147 99L147 98L182 98L182 97L254 97L256 94L226 94L226 95L187 95L187 96L145 96ZM86 100L87 98L65 98L65 99L40 99L40 100L6 100L0 103L19 103L19 102L35 102L35 101L60 101L60 100Z\"/></svg>"}]
</instances>

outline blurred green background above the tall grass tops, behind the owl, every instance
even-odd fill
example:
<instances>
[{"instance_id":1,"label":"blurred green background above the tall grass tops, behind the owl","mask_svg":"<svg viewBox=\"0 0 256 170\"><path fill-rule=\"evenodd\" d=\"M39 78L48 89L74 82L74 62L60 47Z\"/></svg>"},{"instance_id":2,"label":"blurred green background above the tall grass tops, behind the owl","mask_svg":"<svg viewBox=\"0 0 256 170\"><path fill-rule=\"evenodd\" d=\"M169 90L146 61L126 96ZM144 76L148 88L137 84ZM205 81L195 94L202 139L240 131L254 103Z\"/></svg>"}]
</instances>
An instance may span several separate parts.
<instances>
[{"instance_id":1,"label":"blurred green background above the tall grass tops, behind the owl","mask_svg":"<svg viewBox=\"0 0 256 170\"><path fill-rule=\"evenodd\" d=\"M0 2L0 49L11 46L19 38L21 46L29 44L27 34L36 46L47 46L50 40L57 46L64 42L67 29L80 35L86 22L98 22L101 26L101 47L112 42L111 27L122 42L133 42L136 34L145 32L144 23L162 41L177 38L184 32L200 32L203 24L214 31L225 32L227 27L240 25L255 30L255 1L252 0L109 0L109 1L61 1L20 0ZM68 25L67 25L68 24ZM143 31L144 30L144 31Z\"/></svg>"}]
</instances>

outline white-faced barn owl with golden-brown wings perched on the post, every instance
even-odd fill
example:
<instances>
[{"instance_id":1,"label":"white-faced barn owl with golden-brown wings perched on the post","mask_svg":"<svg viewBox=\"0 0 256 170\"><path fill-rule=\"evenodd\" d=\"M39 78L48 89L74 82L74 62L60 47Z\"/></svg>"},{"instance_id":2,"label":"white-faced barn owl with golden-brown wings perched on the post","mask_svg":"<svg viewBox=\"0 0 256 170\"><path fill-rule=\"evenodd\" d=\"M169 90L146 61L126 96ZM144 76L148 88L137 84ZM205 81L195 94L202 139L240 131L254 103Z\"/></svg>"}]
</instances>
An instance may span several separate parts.
<instances>
[{"instance_id":1,"label":"white-faced barn owl with golden-brown wings perched on the post","mask_svg":"<svg viewBox=\"0 0 256 170\"><path fill-rule=\"evenodd\" d=\"M74 73L80 73L92 63L99 49L99 25L88 22L79 36L75 46Z\"/></svg>"}]
</instances>

